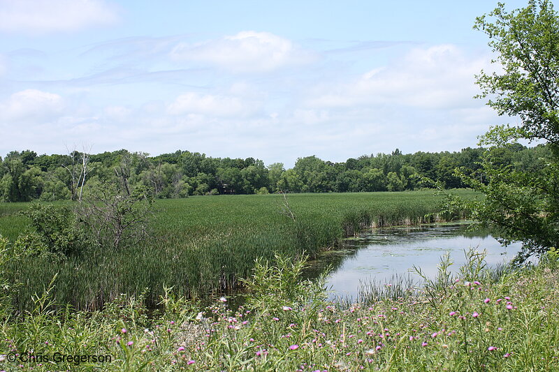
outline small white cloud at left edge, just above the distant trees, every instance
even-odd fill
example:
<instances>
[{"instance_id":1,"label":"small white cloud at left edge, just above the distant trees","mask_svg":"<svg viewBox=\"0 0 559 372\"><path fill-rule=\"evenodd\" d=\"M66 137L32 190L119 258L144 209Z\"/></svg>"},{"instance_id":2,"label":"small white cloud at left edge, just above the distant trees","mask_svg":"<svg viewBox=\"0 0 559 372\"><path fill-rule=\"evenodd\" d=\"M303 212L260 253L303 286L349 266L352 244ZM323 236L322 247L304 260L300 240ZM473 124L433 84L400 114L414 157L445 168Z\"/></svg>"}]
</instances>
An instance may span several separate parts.
<instances>
[{"instance_id":1,"label":"small white cloud at left edge, just above the distant trees","mask_svg":"<svg viewBox=\"0 0 559 372\"><path fill-rule=\"evenodd\" d=\"M3 121L48 121L64 110L64 101L58 94L26 89L12 94L0 102Z\"/></svg>"}]
</instances>

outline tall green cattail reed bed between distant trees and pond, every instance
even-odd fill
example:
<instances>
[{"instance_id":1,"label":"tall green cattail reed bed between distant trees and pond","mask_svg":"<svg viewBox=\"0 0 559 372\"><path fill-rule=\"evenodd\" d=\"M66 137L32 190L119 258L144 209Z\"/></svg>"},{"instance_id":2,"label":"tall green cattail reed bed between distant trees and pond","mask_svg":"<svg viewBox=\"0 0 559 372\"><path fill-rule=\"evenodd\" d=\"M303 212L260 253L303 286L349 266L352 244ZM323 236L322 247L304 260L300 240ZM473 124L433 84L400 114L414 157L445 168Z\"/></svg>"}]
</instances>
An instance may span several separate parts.
<instances>
[{"instance_id":1,"label":"tall green cattail reed bed between distant trees and pond","mask_svg":"<svg viewBox=\"0 0 559 372\"><path fill-rule=\"evenodd\" d=\"M315 257L371 225L441 219L441 200L433 191L298 194L288 195L287 201L282 195L160 200L153 239L61 262L27 258L8 267L8 278L22 283L13 297L21 311L34 306L31 296L48 288L55 275L52 299L78 309L100 308L121 293L145 292L147 303L154 305L166 287L200 297L235 289L238 278L252 272L256 258L273 260L276 253ZM24 232L28 221L17 211L25 208L24 203L0 204L1 235L14 241Z\"/></svg>"}]
</instances>

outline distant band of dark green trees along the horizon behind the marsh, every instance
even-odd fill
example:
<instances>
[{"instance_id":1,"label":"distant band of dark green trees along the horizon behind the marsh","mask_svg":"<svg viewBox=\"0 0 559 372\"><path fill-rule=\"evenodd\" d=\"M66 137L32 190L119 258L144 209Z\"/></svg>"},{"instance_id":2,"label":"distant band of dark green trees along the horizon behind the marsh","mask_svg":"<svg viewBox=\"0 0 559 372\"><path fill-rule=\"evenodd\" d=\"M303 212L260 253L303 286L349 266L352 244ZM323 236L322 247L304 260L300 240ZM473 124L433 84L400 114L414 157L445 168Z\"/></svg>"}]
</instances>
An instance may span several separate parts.
<instances>
[{"instance_id":1,"label":"distant band of dark green trees along the horizon behind the marsh","mask_svg":"<svg viewBox=\"0 0 559 372\"><path fill-rule=\"evenodd\" d=\"M102 154L68 151L38 155L35 151L11 151L0 157L0 200L79 200L84 188L116 184L130 194L137 186L150 188L156 198L189 195L262 193L344 193L405 191L433 187L466 187L455 173L462 169L484 182L480 162L488 150L467 147L459 152L371 154L342 163L317 156L298 158L291 169L282 163L268 166L254 158L212 158L190 151L149 156L125 149ZM491 150L494 163L530 171L542 168L549 147L509 144Z\"/></svg>"}]
</instances>

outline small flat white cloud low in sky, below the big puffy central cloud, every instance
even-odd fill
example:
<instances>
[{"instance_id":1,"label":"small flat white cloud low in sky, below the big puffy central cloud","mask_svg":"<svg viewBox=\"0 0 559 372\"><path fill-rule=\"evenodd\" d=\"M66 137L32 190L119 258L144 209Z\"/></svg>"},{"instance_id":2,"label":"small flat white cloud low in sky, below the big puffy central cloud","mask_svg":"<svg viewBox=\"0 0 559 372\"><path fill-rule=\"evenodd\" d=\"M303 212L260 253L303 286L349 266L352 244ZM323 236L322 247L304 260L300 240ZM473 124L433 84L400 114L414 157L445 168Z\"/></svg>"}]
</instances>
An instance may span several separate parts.
<instances>
[{"instance_id":1,"label":"small flat white cloud low in sky, below the big puffy central cloud","mask_svg":"<svg viewBox=\"0 0 559 372\"><path fill-rule=\"evenodd\" d=\"M245 117L258 109L238 97L189 92L178 96L167 106L168 114L202 114L210 117Z\"/></svg>"}]
</instances>

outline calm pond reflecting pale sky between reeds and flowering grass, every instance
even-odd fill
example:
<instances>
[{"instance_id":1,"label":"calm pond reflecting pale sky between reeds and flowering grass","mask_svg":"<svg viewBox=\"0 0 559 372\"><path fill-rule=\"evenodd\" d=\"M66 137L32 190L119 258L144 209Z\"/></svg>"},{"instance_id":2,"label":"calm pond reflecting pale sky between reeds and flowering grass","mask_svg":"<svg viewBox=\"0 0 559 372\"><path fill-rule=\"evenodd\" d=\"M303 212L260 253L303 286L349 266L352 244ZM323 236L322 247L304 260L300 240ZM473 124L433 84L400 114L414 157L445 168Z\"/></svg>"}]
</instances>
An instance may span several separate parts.
<instances>
[{"instance_id":1,"label":"calm pond reflecting pale sky between reeds and flowering grass","mask_svg":"<svg viewBox=\"0 0 559 372\"><path fill-rule=\"evenodd\" d=\"M424 274L434 278L437 265L444 253L449 252L456 272L465 263L465 250L472 247L486 251L488 266L509 262L520 250L521 244L503 247L488 230L469 231L469 224L439 224L378 228L362 237L347 239L340 251L329 251L310 262L307 276L318 276L331 265L326 285L331 299L356 299L362 283L391 283L395 277L407 277L421 283L419 275L410 272L420 267Z\"/></svg>"}]
</instances>

